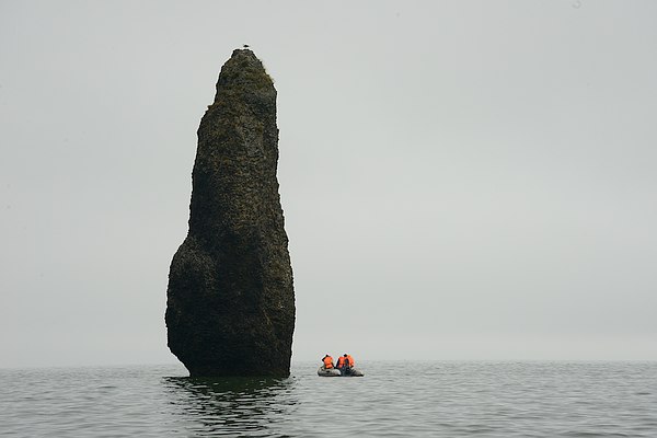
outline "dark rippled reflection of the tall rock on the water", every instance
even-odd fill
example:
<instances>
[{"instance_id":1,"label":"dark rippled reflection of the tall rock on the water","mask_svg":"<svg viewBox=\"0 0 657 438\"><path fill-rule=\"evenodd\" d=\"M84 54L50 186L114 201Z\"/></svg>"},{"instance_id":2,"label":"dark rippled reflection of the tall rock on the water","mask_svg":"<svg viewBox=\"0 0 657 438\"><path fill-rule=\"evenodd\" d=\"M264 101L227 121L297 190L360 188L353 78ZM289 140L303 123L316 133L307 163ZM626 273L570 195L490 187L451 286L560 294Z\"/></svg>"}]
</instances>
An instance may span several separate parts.
<instances>
[{"instance_id":1,"label":"dark rippled reflection of the tall rock on the water","mask_svg":"<svg viewBox=\"0 0 657 438\"><path fill-rule=\"evenodd\" d=\"M177 430L203 436L284 436L297 405L295 379L168 377Z\"/></svg>"}]
</instances>

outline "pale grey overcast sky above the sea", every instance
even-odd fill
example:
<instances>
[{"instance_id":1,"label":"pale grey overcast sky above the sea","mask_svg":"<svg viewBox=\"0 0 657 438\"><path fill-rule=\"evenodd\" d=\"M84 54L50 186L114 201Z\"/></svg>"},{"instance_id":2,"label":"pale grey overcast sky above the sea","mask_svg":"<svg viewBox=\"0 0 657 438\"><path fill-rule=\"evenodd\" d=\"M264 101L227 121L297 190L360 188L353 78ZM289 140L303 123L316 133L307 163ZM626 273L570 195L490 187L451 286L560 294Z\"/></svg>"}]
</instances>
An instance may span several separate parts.
<instances>
[{"instance_id":1,"label":"pale grey overcast sky above the sea","mask_svg":"<svg viewBox=\"0 0 657 438\"><path fill-rule=\"evenodd\" d=\"M196 129L278 91L293 361L657 360L657 2L0 0L0 368L169 364Z\"/></svg>"}]
</instances>

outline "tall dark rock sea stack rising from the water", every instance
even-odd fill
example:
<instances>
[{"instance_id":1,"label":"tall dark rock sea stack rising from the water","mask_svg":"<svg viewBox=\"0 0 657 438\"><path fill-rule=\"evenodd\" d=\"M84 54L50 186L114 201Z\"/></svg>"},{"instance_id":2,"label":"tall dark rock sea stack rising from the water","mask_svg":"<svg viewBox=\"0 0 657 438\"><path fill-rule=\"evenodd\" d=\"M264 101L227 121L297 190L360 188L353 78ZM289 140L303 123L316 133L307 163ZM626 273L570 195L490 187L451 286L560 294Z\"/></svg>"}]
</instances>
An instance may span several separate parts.
<instances>
[{"instance_id":1,"label":"tall dark rock sea stack rising from the water","mask_svg":"<svg viewBox=\"0 0 657 438\"><path fill-rule=\"evenodd\" d=\"M276 169L276 89L250 49L200 120L189 231L166 290L168 344L198 376L289 376L295 291Z\"/></svg>"}]
</instances>

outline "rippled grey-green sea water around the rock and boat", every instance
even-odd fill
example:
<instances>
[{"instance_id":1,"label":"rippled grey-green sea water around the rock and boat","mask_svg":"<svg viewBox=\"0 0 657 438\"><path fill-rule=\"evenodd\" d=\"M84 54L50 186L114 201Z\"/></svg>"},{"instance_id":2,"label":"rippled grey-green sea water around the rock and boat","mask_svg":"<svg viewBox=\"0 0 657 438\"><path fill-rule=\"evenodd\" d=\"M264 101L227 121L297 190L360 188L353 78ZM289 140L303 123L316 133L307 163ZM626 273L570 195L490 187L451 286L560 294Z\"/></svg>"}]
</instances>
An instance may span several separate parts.
<instances>
[{"instance_id":1,"label":"rippled grey-green sea water around the rock and boat","mask_svg":"<svg viewBox=\"0 0 657 438\"><path fill-rule=\"evenodd\" d=\"M358 359L358 358L357 358ZM657 437L657 362L362 362L364 378L0 369L1 437Z\"/></svg>"}]
</instances>

